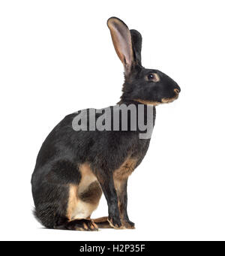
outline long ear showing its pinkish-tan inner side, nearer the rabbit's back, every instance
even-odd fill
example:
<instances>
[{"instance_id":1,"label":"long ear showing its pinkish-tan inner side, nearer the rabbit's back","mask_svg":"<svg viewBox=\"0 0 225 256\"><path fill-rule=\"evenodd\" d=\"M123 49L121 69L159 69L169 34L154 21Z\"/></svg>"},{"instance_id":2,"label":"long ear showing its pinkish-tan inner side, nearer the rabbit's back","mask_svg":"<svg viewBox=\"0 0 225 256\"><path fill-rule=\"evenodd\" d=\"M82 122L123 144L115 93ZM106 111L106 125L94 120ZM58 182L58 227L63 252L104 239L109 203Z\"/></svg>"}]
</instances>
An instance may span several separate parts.
<instances>
[{"instance_id":1,"label":"long ear showing its pinkish-tan inner side, nearer the rabbit's back","mask_svg":"<svg viewBox=\"0 0 225 256\"><path fill-rule=\"evenodd\" d=\"M133 63L133 47L130 30L123 21L116 17L111 17L107 21L107 25L110 29L115 52L124 65L125 73L129 73Z\"/></svg>"}]
</instances>

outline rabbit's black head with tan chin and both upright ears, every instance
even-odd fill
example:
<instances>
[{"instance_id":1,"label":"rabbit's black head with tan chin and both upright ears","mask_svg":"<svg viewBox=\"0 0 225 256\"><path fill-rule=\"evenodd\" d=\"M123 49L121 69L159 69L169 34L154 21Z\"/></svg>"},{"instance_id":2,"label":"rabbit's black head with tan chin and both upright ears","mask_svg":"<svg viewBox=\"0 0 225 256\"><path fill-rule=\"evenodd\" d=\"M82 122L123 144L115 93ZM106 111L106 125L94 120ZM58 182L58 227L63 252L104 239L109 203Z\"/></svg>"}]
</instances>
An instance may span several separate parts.
<instances>
[{"instance_id":1,"label":"rabbit's black head with tan chin and both upright ears","mask_svg":"<svg viewBox=\"0 0 225 256\"><path fill-rule=\"evenodd\" d=\"M107 22L118 58L124 65L125 83L121 101L142 104L163 104L174 101L181 91L166 74L143 68L141 63L142 36L125 23L112 17Z\"/></svg>"}]
</instances>

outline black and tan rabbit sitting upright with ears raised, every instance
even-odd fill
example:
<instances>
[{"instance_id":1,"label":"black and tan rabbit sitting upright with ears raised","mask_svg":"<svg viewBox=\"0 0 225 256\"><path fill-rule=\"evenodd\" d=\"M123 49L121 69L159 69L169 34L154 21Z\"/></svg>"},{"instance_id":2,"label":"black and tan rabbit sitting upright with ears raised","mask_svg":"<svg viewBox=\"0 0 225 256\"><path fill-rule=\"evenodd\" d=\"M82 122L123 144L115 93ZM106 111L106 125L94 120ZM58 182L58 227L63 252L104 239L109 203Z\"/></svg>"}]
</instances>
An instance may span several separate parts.
<instances>
[{"instance_id":1,"label":"black and tan rabbit sitting upright with ears raised","mask_svg":"<svg viewBox=\"0 0 225 256\"><path fill-rule=\"evenodd\" d=\"M138 31L129 30L116 17L107 20L107 26L124 65L122 95L116 105L151 106L151 116L145 111L145 119L154 122L156 106L177 99L181 89L166 74L142 67ZM72 122L77 115L65 116L40 148L31 177L34 215L43 226L55 229L133 229L127 214L127 179L145 157L151 138L139 139L138 129L129 128L74 131ZM92 219L102 193L108 216Z\"/></svg>"}]
</instances>

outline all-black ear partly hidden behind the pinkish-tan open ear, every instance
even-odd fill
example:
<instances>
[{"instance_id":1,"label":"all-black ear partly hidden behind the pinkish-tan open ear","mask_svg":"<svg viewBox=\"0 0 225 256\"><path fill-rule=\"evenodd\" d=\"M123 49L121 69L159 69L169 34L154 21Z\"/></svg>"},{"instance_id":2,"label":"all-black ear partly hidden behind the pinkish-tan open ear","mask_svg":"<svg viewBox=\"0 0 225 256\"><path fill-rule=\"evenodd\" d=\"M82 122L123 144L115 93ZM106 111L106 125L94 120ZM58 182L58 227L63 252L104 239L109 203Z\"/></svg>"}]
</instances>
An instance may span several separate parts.
<instances>
[{"instance_id":1,"label":"all-black ear partly hidden behind the pinkish-tan open ear","mask_svg":"<svg viewBox=\"0 0 225 256\"><path fill-rule=\"evenodd\" d=\"M142 65L142 35L135 29L130 29L130 35L132 39L134 59L138 65Z\"/></svg>"}]
</instances>

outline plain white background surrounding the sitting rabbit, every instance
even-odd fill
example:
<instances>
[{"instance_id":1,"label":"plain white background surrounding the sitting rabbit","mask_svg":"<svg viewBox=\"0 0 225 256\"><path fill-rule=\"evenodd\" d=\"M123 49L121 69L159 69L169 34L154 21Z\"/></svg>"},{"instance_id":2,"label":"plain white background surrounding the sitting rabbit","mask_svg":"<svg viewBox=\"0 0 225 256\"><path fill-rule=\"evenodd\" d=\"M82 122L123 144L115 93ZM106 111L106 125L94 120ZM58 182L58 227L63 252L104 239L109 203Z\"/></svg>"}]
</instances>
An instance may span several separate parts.
<instances>
[{"instance_id":1,"label":"plain white background surrounding the sitting rabbit","mask_svg":"<svg viewBox=\"0 0 225 256\"><path fill-rule=\"evenodd\" d=\"M151 145L128 183L136 230L48 230L31 209L31 173L68 113L115 104L123 68L107 28L142 33L142 63L172 77L178 101L157 107ZM1 1L0 239L223 240L223 1ZM107 215L104 197L94 217Z\"/></svg>"}]
</instances>

